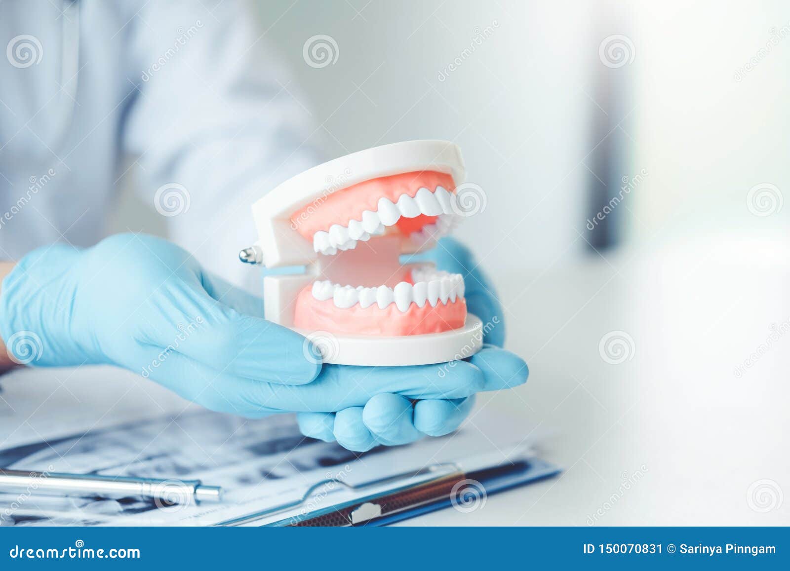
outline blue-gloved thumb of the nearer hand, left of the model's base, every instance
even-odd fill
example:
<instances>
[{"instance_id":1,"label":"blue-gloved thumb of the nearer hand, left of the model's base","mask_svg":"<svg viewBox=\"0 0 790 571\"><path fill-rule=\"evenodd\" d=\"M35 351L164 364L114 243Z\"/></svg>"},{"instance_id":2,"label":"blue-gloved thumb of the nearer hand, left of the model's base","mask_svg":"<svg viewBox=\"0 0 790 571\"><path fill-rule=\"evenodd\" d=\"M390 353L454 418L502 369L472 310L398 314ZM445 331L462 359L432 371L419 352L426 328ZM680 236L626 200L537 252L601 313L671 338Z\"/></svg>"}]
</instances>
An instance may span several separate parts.
<instances>
[{"instance_id":1,"label":"blue-gloved thumb of the nearer hand, left of the model's base","mask_svg":"<svg viewBox=\"0 0 790 571\"><path fill-rule=\"evenodd\" d=\"M254 296L222 280L173 280L166 294L173 327L160 327L149 341L163 349L171 347L217 372L284 385L309 383L321 370L320 355L305 337L226 304L255 310Z\"/></svg>"}]
</instances>

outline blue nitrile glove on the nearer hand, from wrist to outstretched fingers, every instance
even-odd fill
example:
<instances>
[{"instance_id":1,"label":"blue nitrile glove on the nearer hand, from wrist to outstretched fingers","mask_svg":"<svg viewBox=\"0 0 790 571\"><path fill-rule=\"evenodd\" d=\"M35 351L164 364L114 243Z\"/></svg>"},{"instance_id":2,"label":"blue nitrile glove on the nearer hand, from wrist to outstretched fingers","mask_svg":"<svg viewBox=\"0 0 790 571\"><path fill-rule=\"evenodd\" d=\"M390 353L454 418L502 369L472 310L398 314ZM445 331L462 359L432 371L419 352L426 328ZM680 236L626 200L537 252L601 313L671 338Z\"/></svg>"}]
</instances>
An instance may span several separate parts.
<instances>
[{"instance_id":1,"label":"blue nitrile glove on the nearer hand, from wrist to outstretched fingers","mask_svg":"<svg viewBox=\"0 0 790 571\"><path fill-rule=\"evenodd\" d=\"M449 374L438 366L322 369L312 344L262 315L261 299L145 235L115 235L85 250L34 250L0 294L0 335L18 361L110 363L206 408L248 417L363 407L378 393L464 399L489 385L469 363Z\"/></svg>"}]
</instances>

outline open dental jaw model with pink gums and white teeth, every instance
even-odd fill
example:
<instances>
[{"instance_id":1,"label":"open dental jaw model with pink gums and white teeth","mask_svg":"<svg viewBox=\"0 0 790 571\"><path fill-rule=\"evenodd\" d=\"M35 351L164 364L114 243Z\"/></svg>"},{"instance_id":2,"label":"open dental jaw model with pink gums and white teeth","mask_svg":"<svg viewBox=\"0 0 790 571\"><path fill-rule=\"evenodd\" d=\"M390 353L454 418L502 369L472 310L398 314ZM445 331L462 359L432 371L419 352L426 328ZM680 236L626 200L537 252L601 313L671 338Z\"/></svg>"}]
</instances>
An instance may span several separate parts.
<instances>
[{"instance_id":1,"label":"open dental jaw model with pink gums and white teeth","mask_svg":"<svg viewBox=\"0 0 790 571\"><path fill-rule=\"evenodd\" d=\"M401 254L453 227L460 149L446 141L371 148L313 167L253 205L258 242L239 257L303 274L264 278L265 316L313 340L326 363L419 365L482 344L460 274Z\"/></svg>"}]
</instances>

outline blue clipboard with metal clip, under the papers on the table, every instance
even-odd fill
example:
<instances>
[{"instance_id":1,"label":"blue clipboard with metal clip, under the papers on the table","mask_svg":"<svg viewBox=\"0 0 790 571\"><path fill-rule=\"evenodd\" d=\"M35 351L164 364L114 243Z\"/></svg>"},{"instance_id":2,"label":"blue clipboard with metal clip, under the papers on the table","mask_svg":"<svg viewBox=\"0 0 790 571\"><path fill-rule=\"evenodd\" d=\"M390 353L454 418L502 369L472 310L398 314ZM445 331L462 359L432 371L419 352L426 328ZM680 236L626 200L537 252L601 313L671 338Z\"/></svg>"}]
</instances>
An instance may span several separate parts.
<instances>
[{"instance_id":1,"label":"blue clipboard with metal clip, under the papers on the table","mask_svg":"<svg viewBox=\"0 0 790 571\"><path fill-rule=\"evenodd\" d=\"M432 464L384 479L349 485L338 479L324 479L310 486L293 502L265 511L220 522L220 526L261 525L276 527L352 527L387 525L450 506L472 511L487 495L540 479L550 478L560 469L534 456L517 451L506 456L486 454L461 462ZM316 509L306 509L325 486L342 488L352 498Z\"/></svg>"}]
</instances>

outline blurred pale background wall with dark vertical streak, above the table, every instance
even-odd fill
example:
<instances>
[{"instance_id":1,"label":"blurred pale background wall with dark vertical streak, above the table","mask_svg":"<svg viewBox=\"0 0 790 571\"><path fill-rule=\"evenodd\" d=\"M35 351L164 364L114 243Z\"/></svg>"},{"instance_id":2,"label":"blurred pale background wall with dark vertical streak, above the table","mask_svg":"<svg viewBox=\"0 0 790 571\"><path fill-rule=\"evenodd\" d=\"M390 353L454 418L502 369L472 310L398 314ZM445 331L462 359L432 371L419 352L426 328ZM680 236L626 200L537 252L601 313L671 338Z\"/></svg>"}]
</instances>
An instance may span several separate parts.
<instances>
[{"instance_id":1,"label":"blurred pale background wall with dark vertical streak, above the table","mask_svg":"<svg viewBox=\"0 0 790 571\"><path fill-rule=\"evenodd\" d=\"M258 17L325 157L461 146L488 200L459 235L491 270L787 233L783 2L284 0ZM332 62L310 66L320 35ZM163 223L127 195L113 229Z\"/></svg>"}]
</instances>

